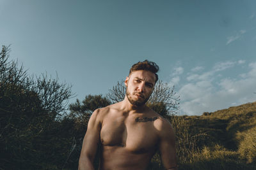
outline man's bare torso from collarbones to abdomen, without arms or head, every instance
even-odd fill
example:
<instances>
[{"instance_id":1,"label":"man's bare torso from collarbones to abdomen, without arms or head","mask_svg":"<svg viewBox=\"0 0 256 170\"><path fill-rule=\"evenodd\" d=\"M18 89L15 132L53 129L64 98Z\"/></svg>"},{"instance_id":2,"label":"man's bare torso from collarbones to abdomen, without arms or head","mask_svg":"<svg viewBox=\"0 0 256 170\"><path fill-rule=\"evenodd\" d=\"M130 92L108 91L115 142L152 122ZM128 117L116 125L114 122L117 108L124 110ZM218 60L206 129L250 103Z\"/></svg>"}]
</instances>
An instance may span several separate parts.
<instances>
[{"instance_id":1,"label":"man's bare torso from collarbones to abdomen, without arms or head","mask_svg":"<svg viewBox=\"0 0 256 170\"><path fill-rule=\"evenodd\" d=\"M146 169L157 149L155 126L162 118L152 110L129 114L115 106L102 112L101 169Z\"/></svg>"}]
</instances>

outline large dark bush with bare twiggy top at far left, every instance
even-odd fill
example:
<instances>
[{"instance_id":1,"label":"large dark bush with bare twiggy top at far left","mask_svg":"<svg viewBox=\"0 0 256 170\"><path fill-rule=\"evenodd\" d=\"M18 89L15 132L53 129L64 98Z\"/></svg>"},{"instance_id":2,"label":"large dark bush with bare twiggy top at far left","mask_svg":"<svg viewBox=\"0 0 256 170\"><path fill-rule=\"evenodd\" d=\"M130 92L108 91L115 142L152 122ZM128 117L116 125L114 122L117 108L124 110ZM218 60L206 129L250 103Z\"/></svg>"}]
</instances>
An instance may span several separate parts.
<instances>
[{"instance_id":1,"label":"large dark bush with bare twiggy top at far left","mask_svg":"<svg viewBox=\"0 0 256 170\"><path fill-rule=\"evenodd\" d=\"M8 60L9 46L0 53L0 165L1 169L47 169L67 152L68 138L56 138L71 87L58 78L29 77L23 66ZM69 136L70 138L70 136ZM52 146L63 150L54 152ZM56 150L56 149L55 149ZM60 153L63 152L63 153ZM66 155L66 154L65 154ZM64 162L58 160L60 162ZM47 166L46 166L47 164Z\"/></svg>"}]
</instances>

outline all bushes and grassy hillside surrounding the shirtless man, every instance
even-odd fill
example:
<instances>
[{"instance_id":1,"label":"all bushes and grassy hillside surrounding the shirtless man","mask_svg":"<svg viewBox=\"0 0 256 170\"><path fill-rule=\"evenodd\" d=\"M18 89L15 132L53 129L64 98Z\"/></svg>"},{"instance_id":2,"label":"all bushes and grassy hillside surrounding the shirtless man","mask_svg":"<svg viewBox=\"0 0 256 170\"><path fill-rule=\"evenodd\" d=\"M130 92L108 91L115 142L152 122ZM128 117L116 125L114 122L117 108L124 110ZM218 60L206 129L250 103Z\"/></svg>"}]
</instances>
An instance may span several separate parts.
<instances>
[{"instance_id":1,"label":"all bushes and grassy hillside surrounding the shirtless man","mask_svg":"<svg viewBox=\"0 0 256 170\"><path fill-rule=\"evenodd\" d=\"M77 169L88 118L95 108L124 99L124 85L118 82L106 97L88 95L67 107L70 85L45 74L29 76L9 61L9 53L3 46L0 169ZM175 129L179 169L256 169L256 102L177 116L179 97L173 88L159 81L147 104ZM148 169L163 169L159 153Z\"/></svg>"}]
</instances>

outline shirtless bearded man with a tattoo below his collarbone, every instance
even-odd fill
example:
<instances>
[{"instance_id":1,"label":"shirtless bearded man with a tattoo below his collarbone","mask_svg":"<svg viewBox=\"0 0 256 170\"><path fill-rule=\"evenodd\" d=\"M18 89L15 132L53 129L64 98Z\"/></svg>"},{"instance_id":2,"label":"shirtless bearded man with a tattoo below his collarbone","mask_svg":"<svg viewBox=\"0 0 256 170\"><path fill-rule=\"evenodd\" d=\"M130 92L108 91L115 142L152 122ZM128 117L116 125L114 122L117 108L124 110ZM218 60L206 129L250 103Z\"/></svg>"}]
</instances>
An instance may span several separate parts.
<instances>
[{"instance_id":1,"label":"shirtless bearded man with a tattoo below his collarbone","mask_svg":"<svg viewBox=\"0 0 256 170\"><path fill-rule=\"evenodd\" d=\"M83 140L79 170L93 169L100 145L101 170L141 170L159 150L163 166L176 170L172 125L145 103L158 79L158 66L145 60L134 64L125 79L124 101L93 112Z\"/></svg>"}]
</instances>

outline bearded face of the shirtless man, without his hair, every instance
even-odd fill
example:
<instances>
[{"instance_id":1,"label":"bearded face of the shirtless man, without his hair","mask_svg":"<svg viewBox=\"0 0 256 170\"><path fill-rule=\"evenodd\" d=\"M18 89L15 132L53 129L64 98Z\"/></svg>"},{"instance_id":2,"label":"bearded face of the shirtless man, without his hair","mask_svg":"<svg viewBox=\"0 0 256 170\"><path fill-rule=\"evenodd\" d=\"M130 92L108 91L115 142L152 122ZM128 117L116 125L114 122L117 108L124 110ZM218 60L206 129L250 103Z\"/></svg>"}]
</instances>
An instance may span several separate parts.
<instances>
[{"instance_id":1,"label":"bearded face of the shirtless man, without his hair","mask_svg":"<svg viewBox=\"0 0 256 170\"><path fill-rule=\"evenodd\" d=\"M145 104L154 90L156 76L150 71L138 70L125 79L126 96L135 106Z\"/></svg>"}]
</instances>

